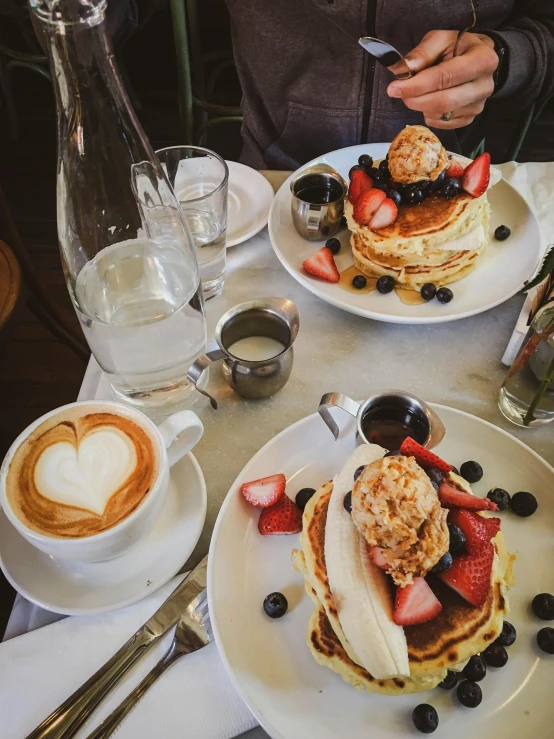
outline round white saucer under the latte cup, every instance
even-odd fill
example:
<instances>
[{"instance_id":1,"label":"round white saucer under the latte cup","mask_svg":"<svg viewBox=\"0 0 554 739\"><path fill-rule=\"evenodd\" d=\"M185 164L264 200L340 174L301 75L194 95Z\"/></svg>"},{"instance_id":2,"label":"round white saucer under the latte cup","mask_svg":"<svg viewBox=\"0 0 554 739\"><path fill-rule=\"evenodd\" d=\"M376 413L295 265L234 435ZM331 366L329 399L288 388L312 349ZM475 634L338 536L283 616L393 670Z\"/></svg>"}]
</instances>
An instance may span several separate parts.
<instances>
[{"instance_id":1,"label":"round white saucer under the latte cup","mask_svg":"<svg viewBox=\"0 0 554 739\"><path fill-rule=\"evenodd\" d=\"M124 608L179 572L202 533L206 502L204 475L187 454L171 470L166 504L148 537L122 557L93 564L63 562L40 552L0 511L0 567L25 598L55 613Z\"/></svg>"}]
</instances>

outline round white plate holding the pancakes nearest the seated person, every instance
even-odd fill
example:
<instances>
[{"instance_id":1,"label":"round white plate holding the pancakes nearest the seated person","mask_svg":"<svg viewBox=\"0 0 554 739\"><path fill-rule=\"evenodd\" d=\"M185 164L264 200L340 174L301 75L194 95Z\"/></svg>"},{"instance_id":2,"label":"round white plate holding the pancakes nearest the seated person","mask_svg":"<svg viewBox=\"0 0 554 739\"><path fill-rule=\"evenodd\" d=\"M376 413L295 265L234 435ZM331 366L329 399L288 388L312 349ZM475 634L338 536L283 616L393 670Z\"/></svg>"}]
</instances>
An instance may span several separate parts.
<instances>
[{"instance_id":1,"label":"round white plate holding the pancakes nearest the seated person","mask_svg":"<svg viewBox=\"0 0 554 739\"><path fill-rule=\"evenodd\" d=\"M389 144L362 144L339 149L314 159L299 171L318 162L334 167L348 179L350 168L360 154L368 153L374 159L383 158ZM296 173L295 173L296 174ZM365 295L347 292L336 284L310 277L302 269L302 262L324 245L323 241L306 241L292 223L290 213L290 180L279 188L269 212L269 236L282 265L294 279L314 295L331 305L367 318L391 323L441 323L482 313L515 295L535 272L541 257L539 225L522 196L505 180L489 190L491 205L491 241L475 270L449 287L454 299L447 305L431 300L423 305L405 305L392 292L381 295L377 291ZM505 223L512 230L506 241L495 241L494 229ZM349 245L350 231L340 234L342 249L335 258L340 272L353 264Z\"/></svg>"}]
</instances>

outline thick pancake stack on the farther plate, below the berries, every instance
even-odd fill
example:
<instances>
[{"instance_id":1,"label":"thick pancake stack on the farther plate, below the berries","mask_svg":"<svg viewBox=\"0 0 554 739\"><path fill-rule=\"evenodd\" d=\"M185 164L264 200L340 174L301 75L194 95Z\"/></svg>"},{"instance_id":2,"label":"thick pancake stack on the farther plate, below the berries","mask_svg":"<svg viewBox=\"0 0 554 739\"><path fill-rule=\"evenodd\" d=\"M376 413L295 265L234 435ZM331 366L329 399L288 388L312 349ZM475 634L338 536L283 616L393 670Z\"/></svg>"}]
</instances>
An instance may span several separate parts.
<instances>
[{"instance_id":1,"label":"thick pancake stack on the farther plate, below the berries","mask_svg":"<svg viewBox=\"0 0 554 739\"><path fill-rule=\"evenodd\" d=\"M498 175L493 168L491 185ZM347 201L354 264L368 277L390 275L412 290L455 282L471 272L488 243L489 210L486 192L479 198L460 192L451 200L435 193L419 205L400 205L394 223L372 231L354 220Z\"/></svg>"}]
</instances>

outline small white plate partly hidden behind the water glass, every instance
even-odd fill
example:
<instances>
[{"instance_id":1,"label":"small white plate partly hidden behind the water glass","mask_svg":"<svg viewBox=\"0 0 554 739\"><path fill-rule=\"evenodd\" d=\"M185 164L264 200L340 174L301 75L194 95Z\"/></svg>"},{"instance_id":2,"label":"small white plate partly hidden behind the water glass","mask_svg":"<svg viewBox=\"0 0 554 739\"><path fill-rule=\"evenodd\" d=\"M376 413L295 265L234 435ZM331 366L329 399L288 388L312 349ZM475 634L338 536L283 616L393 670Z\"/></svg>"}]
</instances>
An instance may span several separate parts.
<instances>
[{"instance_id":1,"label":"small white plate partly hidden behind the water glass","mask_svg":"<svg viewBox=\"0 0 554 739\"><path fill-rule=\"evenodd\" d=\"M255 236L267 225L275 194L266 178L252 167L239 162L227 162L227 166L227 246L235 246Z\"/></svg>"}]
</instances>

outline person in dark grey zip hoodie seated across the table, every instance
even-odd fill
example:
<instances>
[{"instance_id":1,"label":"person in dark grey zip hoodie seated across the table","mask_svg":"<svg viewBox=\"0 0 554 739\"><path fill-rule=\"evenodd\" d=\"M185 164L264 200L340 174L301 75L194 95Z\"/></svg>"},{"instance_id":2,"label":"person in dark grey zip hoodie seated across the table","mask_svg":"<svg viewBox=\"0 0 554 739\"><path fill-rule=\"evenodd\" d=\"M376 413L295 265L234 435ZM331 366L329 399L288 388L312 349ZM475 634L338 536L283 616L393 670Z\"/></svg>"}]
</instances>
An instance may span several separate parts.
<instances>
[{"instance_id":1,"label":"person in dark grey zip hoodie seated across the table","mask_svg":"<svg viewBox=\"0 0 554 739\"><path fill-rule=\"evenodd\" d=\"M487 136L501 160L554 91L552 0L226 0L243 89L242 161L296 169L333 149L431 127L451 151ZM462 36L456 58L457 32ZM377 36L416 75L357 43ZM554 154L554 152L553 152Z\"/></svg>"}]
</instances>

